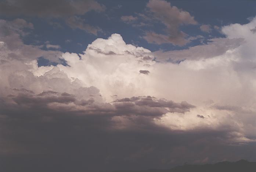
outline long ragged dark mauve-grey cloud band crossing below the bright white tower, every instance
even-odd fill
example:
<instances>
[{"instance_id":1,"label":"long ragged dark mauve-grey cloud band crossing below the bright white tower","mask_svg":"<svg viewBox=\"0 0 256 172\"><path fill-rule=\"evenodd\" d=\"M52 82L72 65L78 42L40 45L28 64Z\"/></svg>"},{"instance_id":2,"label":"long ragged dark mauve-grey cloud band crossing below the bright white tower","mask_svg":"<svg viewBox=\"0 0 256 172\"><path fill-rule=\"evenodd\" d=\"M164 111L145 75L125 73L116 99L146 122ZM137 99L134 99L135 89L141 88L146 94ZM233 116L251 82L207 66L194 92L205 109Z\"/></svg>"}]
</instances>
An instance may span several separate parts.
<instances>
[{"instance_id":1,"label":"long ragged dark mauve-grey cloud band crossing below the bright white tower","mask_svg":"<svg viewBox=\"0 0 256 172\"><path fill-rule=\"evenodd\" d=\"M144 116L150 117L152 120L152 118L161 117L167 112L185 113L195 107L187 102L176 103L151 96L117 99L111 104L95 101L93 96L87 96L88 99L79 99L67 92L43 91L40 94L35 94L24 89L19 89L16 92L16 95L14 92L4 99L9 103L8 106L53 111L62 111L61 108L65 108L66 112L76 111L90 115L106 113L110 116Z\"/></svg>"}]
</instances>

